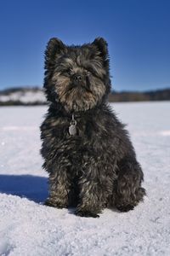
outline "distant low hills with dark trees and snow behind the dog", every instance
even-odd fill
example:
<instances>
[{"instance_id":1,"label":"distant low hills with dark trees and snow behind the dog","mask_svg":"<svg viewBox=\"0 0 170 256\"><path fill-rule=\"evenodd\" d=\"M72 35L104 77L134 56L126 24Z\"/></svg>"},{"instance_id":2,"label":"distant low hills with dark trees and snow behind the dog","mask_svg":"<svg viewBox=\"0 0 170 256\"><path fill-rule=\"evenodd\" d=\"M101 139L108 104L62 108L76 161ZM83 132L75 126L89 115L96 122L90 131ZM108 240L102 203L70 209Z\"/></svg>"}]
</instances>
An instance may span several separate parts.
<instances>
[{"instance_id":1,"label":"distant low hills with dark trees and snow behind the dog","mask_svg":"<svg viewBox=\"0 0 170 256\"><path fill-rule=\"evenodd\" d=\"M109 102L170 101L170 88L145 92L112 91ZM38 87L20 87L0 90L0 106L47 104L43 90Z\"/></svg>"}]
</instances>

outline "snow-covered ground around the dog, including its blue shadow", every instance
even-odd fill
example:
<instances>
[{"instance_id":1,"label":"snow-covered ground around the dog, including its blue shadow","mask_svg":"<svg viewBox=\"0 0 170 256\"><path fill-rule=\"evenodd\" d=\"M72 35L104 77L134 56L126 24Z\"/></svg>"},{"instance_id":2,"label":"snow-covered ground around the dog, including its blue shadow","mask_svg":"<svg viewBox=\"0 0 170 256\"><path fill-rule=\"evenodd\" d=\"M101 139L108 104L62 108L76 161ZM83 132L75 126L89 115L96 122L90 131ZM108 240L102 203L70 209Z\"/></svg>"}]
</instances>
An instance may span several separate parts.
<instances>
[{"instance_id":1,"label":"snow-covered ground around the dog, including its blue shadow","mask_svg":"<svg viewBox=\"0 0 170 256\"><path fill-rule=\"evenodd\" d=\"M47 107L0 108L0 255L170 255L170 102L116 103L144 169L134 211L80 218L42 205L39 125Z\"/></svg>"}]
</instances>

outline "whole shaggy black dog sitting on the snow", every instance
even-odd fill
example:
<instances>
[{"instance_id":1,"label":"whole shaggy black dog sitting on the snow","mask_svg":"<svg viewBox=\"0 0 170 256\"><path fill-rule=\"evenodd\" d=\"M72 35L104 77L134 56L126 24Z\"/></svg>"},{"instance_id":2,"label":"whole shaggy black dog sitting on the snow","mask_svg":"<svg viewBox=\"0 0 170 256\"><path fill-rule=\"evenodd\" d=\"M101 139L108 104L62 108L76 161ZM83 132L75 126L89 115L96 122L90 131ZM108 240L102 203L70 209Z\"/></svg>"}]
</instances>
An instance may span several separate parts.
<instances>
[{"instance_id":1,"label":"whole shaggy black dog sitting on the snow","mask_svg":"<svg viewBox=\"0 0 170 256\"><path fill-rule=\"evenodd\" d=\"M107 103L111 90L107 43L66 46L58 38L45 52L48 113L41 125L50 207L77 207L99 217L105 207L133 210L145 195L143 172L124 125Z\"/></svg>"}]
</instances>

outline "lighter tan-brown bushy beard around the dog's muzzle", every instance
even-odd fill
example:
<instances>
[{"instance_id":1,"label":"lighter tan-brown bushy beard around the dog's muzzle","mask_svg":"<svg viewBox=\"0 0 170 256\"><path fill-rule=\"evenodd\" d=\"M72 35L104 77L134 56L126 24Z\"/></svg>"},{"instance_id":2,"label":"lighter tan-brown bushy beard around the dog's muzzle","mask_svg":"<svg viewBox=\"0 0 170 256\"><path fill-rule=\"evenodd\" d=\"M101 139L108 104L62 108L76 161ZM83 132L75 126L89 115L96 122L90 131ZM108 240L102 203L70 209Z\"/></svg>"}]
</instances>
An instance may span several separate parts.
<instances>
[{"instance_id":1,"label":"lighter tan-brown bushy beard around the dog's muzzle","mask_svg":"<svg viewBox=\"0 0 170 256\"><path fill-rule=\"evenodd\" d=\"M92 75L80 84L74 84L69 77L56 73L53 82L59 102L67 111L86 111L94 108L105 94L105 84Z\"/></svg>"}]
</instances>

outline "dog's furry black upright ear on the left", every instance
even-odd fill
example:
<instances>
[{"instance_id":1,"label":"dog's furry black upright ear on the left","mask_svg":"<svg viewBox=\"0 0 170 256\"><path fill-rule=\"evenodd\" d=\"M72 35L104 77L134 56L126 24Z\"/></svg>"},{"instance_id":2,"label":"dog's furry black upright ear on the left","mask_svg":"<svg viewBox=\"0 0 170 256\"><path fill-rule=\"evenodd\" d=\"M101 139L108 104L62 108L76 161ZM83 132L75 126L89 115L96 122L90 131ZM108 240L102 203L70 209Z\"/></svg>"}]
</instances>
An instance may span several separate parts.
<instances>
[{"instance_id":1,"label":"dog's furry black upright ear on the left","mask_svg":"<svg viewBox=\"0 0 170 256\"><path fill-rule=\"evenodd\" d=\"M58 38L51 38L45 50L45 68L54 66L54 62L58 55L65 53L65 44Z\"/></svg>"}]
</instances>

